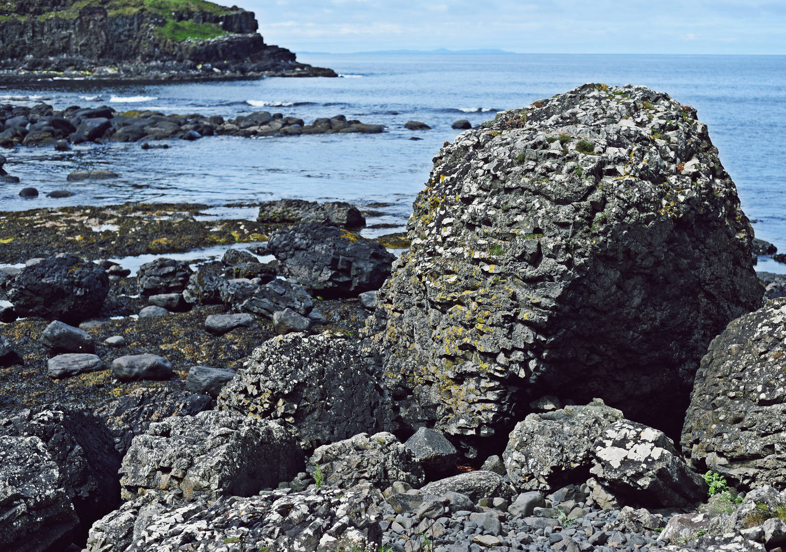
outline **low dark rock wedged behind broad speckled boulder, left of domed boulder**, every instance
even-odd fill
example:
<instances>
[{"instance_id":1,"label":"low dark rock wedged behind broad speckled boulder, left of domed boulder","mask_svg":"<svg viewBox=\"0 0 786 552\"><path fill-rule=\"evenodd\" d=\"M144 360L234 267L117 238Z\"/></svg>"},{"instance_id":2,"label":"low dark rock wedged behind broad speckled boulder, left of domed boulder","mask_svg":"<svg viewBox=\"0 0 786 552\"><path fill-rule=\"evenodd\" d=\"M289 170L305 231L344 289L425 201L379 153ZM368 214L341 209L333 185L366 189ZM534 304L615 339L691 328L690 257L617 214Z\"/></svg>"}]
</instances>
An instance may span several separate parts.
<instances>
[{"instance_id":1,"label":"low dark rock wedged behind broad speckled boulder, left of domed boulder","mask_svg":"<svg viewBox=\"0 0 786 552\"><path fill-rule=\"evenodd\" d=\"M163 389L136 389L100 407L96 414L105 421L115 448L126 454L134 436L144 433L153 421L171 416L194 416L211 408L207 395Z\"/></svg>"}]
</instances>

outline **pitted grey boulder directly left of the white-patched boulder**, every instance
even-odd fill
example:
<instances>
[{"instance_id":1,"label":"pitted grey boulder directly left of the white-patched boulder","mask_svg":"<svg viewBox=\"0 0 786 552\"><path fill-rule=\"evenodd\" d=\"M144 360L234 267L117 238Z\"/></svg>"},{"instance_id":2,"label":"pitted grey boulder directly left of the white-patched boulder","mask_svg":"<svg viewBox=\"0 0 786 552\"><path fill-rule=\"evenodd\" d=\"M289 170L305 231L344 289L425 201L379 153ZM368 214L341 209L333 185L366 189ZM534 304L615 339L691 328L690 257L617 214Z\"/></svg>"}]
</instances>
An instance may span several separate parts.
<instances>
[{"instance_id":1,"label":"pitted grey boulder directly left of the white-patched boulder","mask_svg":"<svg viewBox=\"0 0 786 552\"><path fill-rule=\"evenodd\" d=\"M529 414L510 432L502 457L511 483L521 491L570 483L571 470L593 463L593 443L623 413L595 399L586 407Z\"/></svg>"}]
</instances>

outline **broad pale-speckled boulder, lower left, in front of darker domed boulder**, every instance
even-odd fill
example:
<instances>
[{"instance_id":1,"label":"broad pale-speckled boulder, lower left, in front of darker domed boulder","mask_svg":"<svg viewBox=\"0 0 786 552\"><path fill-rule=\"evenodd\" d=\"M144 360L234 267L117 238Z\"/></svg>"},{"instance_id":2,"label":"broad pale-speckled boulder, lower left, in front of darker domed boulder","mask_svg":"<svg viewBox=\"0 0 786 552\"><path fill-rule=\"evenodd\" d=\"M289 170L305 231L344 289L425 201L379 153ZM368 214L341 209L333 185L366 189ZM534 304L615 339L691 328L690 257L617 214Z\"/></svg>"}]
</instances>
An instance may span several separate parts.
<instances>
[{"instance_id":1,"label":"broad pale-speckled boulder, lower left, in front of darker domed boulder","mask_svg":"<svg viewBox=\"0 0 786 552\"><path fill-rule=\"evenodd\" d=\"M251 496L291 480L303 454L285 429L271 421L205 410L152 423L134 437L119 473L123 500L146 489L178 499Z\"/></svg>"}]
</instances>

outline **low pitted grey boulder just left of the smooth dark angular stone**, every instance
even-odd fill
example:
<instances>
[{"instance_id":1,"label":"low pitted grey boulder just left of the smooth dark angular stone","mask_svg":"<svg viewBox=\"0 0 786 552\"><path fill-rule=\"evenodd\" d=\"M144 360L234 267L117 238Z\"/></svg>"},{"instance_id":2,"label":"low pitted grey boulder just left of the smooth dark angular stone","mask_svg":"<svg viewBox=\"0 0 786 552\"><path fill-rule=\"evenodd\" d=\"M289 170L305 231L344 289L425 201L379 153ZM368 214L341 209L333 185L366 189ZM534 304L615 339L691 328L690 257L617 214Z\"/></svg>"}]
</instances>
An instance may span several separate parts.
<instances>
[{"instance_id":1,"label":"low pitted grey boulder just left of the smooth dark angular stone","mask_svg":"<svg viewBox=\"0 0 786 552\"><path fill-rule=\"evenodd\" d=\"M419 488L425 477L412 451L388 432L372 436L359 433L351 439L322 445L308 462L311 477L316 473L315 465L321 469L325 485L345 489L364 483L385 489L395 481Z\"/></svg>"}]
</instances>

